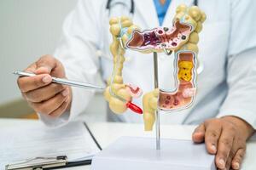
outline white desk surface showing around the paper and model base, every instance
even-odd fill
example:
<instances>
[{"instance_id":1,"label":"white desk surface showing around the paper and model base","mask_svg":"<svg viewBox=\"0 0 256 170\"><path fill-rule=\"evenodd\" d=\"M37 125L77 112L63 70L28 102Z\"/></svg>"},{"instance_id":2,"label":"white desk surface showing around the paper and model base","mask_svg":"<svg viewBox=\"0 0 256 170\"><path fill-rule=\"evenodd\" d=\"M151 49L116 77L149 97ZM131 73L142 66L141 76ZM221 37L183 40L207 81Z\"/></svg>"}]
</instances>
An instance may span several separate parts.
<instances>
[{"instance_id":1,"label":"white desk surface showing around the paper and model base","mask_svg":"<svg viewBox=\"0 0 256 170\"><path fill-rule=\"evenodd\" d=\"M0 119L0 127L13 127L19 126L22 123L38 123L38 121L18 120L18 119ZM111 144L120 136L143 136L154 137L153 132L144 132L143 124L131 123L114 123L114 122L88 122L90 130L94 133L97 141L101 144L102 148ZM163 125L161 126L161 137L171 139L191 139L195 126L183 125ZM243 170L256 169L256 138L247 142L247 154L243 161ZM84 167L70 167L70 170L84 169L89 170L90 166Z\"/></svg>"}]
</instances>

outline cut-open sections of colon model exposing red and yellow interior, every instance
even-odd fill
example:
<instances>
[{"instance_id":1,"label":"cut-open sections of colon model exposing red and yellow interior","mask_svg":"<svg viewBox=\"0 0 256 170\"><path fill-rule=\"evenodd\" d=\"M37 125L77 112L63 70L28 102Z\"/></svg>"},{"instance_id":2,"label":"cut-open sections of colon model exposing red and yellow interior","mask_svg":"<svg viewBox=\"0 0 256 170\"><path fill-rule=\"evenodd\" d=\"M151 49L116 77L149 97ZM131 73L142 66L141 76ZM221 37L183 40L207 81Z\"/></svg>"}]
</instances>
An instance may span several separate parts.
<instances>
[{"instance_id":1,"label":"cut-open sections of colon model exposing red and yellow interior","mask_svg":"<svg viewBox=\"0 0 256 170\"><path fill-rule=\"evenodd\" d=\"M152 30L132 32L126 48L143 53L162 52L163 48L179 49L189 40L193 26L176 21L172 28L154 28ZM174 61L176 89L165 91L160 89L158 108L172 111L182 110L192 104L195 99L196 54L181 49L175 54Z\"/></svg>"}]
</instances>

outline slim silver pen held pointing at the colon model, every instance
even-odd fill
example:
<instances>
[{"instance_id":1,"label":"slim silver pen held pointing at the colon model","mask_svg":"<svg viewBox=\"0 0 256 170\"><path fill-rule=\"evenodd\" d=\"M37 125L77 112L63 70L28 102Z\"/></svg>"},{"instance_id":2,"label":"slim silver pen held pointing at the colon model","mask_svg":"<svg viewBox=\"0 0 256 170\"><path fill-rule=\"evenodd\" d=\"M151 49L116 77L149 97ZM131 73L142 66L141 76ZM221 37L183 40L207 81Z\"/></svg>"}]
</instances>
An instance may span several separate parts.
<instances>
[{"instance_id":1,"label":"slim silver pen held pointing at the colon model","mask_svg":"<svg viewBox=\"0 0 256 170\"><path fill-rule=\"evenodd\" d=\"M22 72L22 71L13 71L13 74L18 75L20 77L34 77L36 76L33 73L30 72ZM104 90L105 88L102 88L100 86L96 86L87 82L76 82L71 81L67 79L52 77L52 82L59 83L59 84L65 84L67 86L73 86L77 88L86 88L86 89L96 89L96 90Z\"/></svg>"}]
</instances>

